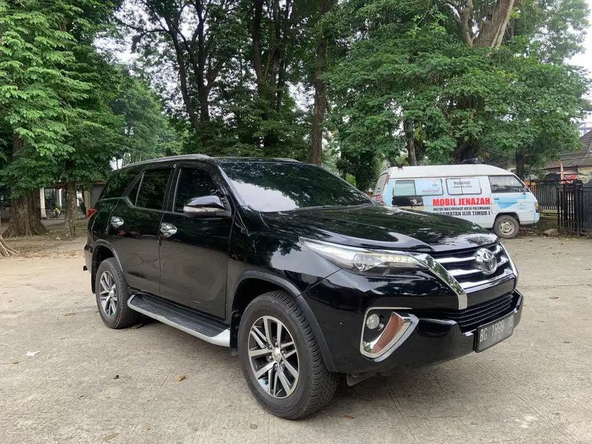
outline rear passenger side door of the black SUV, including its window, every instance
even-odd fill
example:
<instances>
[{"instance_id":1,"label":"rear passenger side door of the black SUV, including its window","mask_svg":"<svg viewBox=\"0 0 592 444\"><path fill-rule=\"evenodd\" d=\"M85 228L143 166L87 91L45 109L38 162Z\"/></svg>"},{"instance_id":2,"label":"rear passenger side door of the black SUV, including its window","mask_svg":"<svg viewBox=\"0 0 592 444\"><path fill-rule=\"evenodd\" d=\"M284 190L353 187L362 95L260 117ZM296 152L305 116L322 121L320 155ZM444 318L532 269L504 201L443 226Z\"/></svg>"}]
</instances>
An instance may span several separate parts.
<instances>
[{"instance_id":1,"label":"rear passenger side door of the black SUV, including its window","mask_svg":"<svg viewBox=\"0 0 592 444\"><path fill-rule=\"evenodd\" d=\"M159 292L158 237L172 171L173 168L144 171L127 196L119 200L109 219L110 241L127 284L141 292Z\"/></svg>"}]
</instances>

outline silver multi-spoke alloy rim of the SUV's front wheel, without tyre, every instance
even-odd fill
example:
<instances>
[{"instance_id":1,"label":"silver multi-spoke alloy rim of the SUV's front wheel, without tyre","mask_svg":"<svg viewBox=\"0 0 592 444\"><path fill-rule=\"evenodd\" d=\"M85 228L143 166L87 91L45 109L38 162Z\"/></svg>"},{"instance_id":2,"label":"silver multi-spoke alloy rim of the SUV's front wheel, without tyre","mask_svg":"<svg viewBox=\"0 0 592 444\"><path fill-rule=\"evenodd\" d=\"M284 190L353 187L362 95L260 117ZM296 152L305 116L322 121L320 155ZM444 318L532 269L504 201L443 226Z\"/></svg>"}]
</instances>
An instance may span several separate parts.
<instances>
[{"instance_id":1,"label":"silver multi-spoke alloy rim of the SUV's front wheel, without tyre","mask_svg":"<svg viewBox=\"0 0 592 444\"><path fill-rule=\"evenodd\" d=\"M277 399L294 393L299 361L288 328L275 317L260 317L251 326L248 347L251 369L263 390Z\"/></svg>"}]
</instances>

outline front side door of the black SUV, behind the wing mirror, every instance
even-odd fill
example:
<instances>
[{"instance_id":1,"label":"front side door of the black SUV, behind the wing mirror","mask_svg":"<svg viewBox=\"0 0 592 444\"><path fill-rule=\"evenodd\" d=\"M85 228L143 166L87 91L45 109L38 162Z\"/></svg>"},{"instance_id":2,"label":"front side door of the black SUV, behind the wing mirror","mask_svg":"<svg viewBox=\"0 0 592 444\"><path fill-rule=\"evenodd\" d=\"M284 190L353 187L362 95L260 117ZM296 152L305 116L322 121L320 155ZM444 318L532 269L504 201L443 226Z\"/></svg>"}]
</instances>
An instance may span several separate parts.
<instances>
[{"instance_id":1,"label":"front side door of the black SUV, behind the wing mirror","mask_svg":"<svg viewBox=\"0 0 592 444\"><path fill-rule=\"evenodd\" d=\"M228 241L232 219L183 214L188 200L224 196L212 167L180 166L171 212L162 219L160 294L166 299L223 318L226 314ZM226 204L228 205L228 204ZM230 207L228 207L230 209ZM171 231L172 230L172 231Z\"/></svg>"}]
</instances>

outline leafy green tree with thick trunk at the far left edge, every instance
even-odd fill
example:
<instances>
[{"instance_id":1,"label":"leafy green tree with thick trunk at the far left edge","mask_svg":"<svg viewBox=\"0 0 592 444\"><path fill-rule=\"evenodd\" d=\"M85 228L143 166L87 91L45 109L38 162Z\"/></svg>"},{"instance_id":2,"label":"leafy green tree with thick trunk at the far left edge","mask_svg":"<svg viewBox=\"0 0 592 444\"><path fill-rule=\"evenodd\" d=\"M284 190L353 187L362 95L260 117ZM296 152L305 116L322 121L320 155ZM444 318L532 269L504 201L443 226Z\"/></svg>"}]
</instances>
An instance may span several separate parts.
<instances>
[{"instance_id":1,"label":"leafy green tree with thick trunk at the far left edge","mask_svg":"<svg viewBox=\"0 0 592 444\"><path fill-rule=\"evenodd\" d=\"M90 88L68 69L75 39L65 24L80 12L61 0L0 1L0 118L13 134L1 171L14 196L7 236L45 232L32 192L52 182L56 156L72 151L64 141L79 113L72 103Z\"/></svg>"}]
</instances>

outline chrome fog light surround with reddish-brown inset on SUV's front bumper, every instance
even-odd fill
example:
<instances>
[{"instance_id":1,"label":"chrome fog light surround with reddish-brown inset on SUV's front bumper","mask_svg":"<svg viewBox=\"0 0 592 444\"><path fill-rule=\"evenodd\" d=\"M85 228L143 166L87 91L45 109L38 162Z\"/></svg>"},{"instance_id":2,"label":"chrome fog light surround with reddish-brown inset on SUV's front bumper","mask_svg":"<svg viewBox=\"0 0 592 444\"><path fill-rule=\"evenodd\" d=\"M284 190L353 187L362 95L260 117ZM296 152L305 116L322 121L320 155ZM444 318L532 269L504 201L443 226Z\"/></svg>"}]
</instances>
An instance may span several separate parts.
<instances>
[{"instance_id":1,"label":"chrome fog light surround with reddish-brown inset on SUV's front bumper","mask_svg":"<svg viewBox=\"0 0 592 444\"><path fill-rule=\"evenodd\" d=\"M375 310L401 310L401 308L373 307L368 311ZM409 309L405 308L403 310ZM366 358L380 358L387 354L387 352L394 351L400 344L403 344L407 340L419 322L419 319L414 315L399 315L397 312L391 311L391 316L379 335L374 340L366 342L364 341L364 329L366 328L368 311L364 316L360 338L360 353L366 356Z\"/></svg>"}]
</instances>

